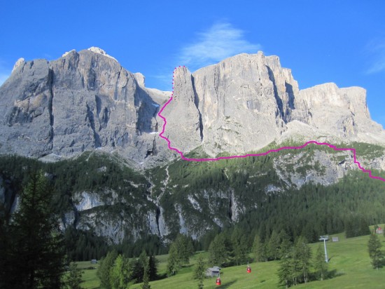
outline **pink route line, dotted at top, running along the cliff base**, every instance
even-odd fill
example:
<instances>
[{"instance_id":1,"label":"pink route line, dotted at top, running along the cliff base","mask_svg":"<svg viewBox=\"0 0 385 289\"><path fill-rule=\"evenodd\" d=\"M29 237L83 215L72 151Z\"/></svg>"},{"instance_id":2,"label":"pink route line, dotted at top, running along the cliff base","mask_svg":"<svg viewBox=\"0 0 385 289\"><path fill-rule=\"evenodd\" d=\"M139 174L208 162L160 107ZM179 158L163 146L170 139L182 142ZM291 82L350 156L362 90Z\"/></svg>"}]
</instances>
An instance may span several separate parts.
<instances>
[{"instance_id":1,"label":"pink route line, dotted at top, running along the cliff base","mask_svg":"<svg viewBox=\"0 0 385 289\"><path fill-rule=\"evenodd\" d=\"M174 79L173 79L173 85L174 85ZM173 87L173 89L174 89L174 87ZM172 95L174 95L174 91L172 92ZM335 151L351 151L351 152L353 152L354 163L357 164L358 168L360 170L362 170L363 173L368 173L369 177L371 177L372 179L381 180L382 182L385 182L385 179L383 177L377 177L375 175L372 175L371 170L365 170L365 168L363 168L363 166L361 166L360 162L357 161L357 158L356 158L356 149L354 149L354 148L339 148L339 147L336 147L335 145L330 145L327 142L317 142L316 140L309 140L308 142L305 142L304 145L301 145L300 147L280 147L279 149L269 149L267 152L262 152L260 154L244 154L241 156L218 156L218 158L212 158L212 159L211 158L209 158L209 159L186 158L186 156L183 155L183 152L181 152L179 149L176 149L175 147L172 147L170 140L163 135L165 133L167 120L166 120L165 116L162 116L162 112L167 107L167 105L169 105L169 103L172 102L172 99L173 99L173 97L171 96L169 98L169 100L165 103L165 105L163 105L162 109L160 109L160 111L158 112L158 116L160 116L160 118L163 119L163 121L164 121L162 132L159 134L159 136L162 137L162 139L166 140L169 149L171 149L174 152L177 152L181 156L181 159L183 159L184 161L219 161L221 159L242 159L242 158L247 158L248 156L266 156L267 154L270 154L271 152L279 152L283 149L303 149L304 147L307 147L307 145L310 145L310 144L325 145L327 147L334 149Z\"/></svg>"}]
</instances>

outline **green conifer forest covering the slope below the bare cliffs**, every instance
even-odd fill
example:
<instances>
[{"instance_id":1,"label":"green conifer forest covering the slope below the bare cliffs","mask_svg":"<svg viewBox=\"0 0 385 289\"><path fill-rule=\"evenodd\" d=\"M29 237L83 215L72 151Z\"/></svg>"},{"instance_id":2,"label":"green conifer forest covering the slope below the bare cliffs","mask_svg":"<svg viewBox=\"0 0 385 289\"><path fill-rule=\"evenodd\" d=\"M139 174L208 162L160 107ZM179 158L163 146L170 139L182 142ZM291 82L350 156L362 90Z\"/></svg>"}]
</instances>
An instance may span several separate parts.
<instances>
[{"instance_id":1,"label":"green conifer forest covering the slope below the bare cliffs","mask_svg":"<svg viewBox=\"0 0 385 289\"><path fill-rule=\"evenodd\" d=\"M274 168L274 158L285 158L288 154L291 157L300 154L300 161L298 166L289 166L286 170L300 175L314 170L322 174L324 168L312 161L318 149L328 152L335 162L341 161L341 155L326 147L315 146L306 147L304 152L283 151L216 162L176 160L167 166L145 171L134 170L130 163L118 156L102 152L87 152L76 159L56 163L1 156L0 183L4 191L3 203L0 204L1 230L11 232L15 229L12 205L15 200L20 204L23 197L20 199L19 196L25 194L38 172L47 182L45 204L50 210L45 214L55 221L50 226L55 223L57 228L60 222L64 224L64 227L56 229L55 234L60 236L60 250L68 262L99 260L116 252L116 256L121 255L121 262L130 264L128 258L141 254L169 253L176 256L174 263L169 264L168 274L172 275L188 263L189 254L198 250L208 252L210 264L223 267L250 262L251 252L258 252L254 255L261 262L279 260L278 250L283 240L291 244L297 244L298 240L313 243L321 235L341 231L345 231L346 238L351 238L369 234L367 228L370 224L384 223L385 183L373 180L359 170L350 170L339 182L328 186L307 183L297 188L280 179ZM375 154L379 152L377 149ZM361 145L359 151L373 154L375 149L365 150ZM190 157L196 154L193 152ZM374 170L373 174L385 177L382 171ZM267 187L279 189L269 191ZM99 236L97 228L79 229L77 221L84 212L77 212L74 207L75 195L81 191L91 191L104 202L104 205L85 213L97 216L106 213L111 222L125 218L130 226L144 224L146 214L158 213L160 206L169 231L167 235L159 236L139 226L137 236L127 231L123 241L113 243L111 239ZM155 200L158 200L158 205ZM241 210L236 211L235 206L241 206ZM173 245L181 243L180 212L176 208L180 208L182 217L185 217L186 228L197 236L183 239L188 244L187 257L178 257L179 251ZM69 211L74 212L73 221L63 222ZM13 236L3 240L1 250L6 248L4 242L13 241L17 241ZM132 263L130 266L137 265ZM141 266L145 268L143 262ZM143 281L143 278L142 274L140 278L132 277L132 281Z\"/></svg>"}]
</instances>

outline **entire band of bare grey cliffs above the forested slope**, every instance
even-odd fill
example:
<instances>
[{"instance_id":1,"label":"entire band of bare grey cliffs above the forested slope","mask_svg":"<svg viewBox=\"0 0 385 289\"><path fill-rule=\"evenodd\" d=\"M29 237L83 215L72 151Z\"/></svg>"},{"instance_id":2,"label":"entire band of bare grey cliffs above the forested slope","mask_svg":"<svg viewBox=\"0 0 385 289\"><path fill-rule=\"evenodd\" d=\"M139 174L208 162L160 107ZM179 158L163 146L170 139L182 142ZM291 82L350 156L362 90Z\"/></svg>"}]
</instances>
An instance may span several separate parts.
<instances>
[{"instance_id":1,"label":"entire band of bare grey cliffs above the forested slope","mask_svg":"<svg viewBox=\"0 0 385 289\"><path fill-rule=\"evenodd\" d=\"M146 88L101 48L62 58L18 60L0 88L0 153L76 156L118 152L144 166L174 156L158 133L171 93ZM363 88L325 83L300 90L277 56L240 54L193 74L174 73L165 135L183 153L244 154L271 142L362 141L385 144Z\"/></svg>"}]
</instances>

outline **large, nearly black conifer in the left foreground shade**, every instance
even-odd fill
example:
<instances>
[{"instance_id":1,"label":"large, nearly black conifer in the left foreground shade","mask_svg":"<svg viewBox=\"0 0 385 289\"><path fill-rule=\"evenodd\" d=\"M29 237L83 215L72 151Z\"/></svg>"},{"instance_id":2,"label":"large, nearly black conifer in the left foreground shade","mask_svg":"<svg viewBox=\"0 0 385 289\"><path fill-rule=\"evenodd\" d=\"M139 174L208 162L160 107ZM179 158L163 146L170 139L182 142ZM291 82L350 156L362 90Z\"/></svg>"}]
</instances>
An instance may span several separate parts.
<instances>
[{"instance_id":1,"label":"large, nearly black conifer in the left foreground shade","mask_svg":"<svg viewBox=\"0 0 385 289\"><path fill-rule=\"evenodd\" d=\"M64 274L64 243L50 206L52 189L42 172L34 173L20 196L20 210L8 234L5 288L60 288Z\"/></svg>"}]
</instances>

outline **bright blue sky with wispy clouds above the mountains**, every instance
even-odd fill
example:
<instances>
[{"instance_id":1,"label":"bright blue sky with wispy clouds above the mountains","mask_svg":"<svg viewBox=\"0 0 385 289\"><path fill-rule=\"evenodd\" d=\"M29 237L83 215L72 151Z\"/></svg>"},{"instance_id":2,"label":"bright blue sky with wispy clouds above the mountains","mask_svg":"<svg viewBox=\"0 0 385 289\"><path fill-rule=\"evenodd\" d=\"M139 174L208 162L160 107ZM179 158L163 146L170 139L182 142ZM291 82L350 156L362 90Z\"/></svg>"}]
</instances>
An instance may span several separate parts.
<instances>
[{"instance_id":1,"label":"bright blue sky with wispy clouds above the mountains","mask_svg":"<svg viewBox=\"0 0 385 289\"><path fill-rule=\"evenodd\" d=\"M238 53L278 55L300 88L362 86L385 127L385 1L3 1L0 83L18 58L54 60L98 46L146 86L171 90L172 69L194 71Z\"/></svg>"}]
</instances>

